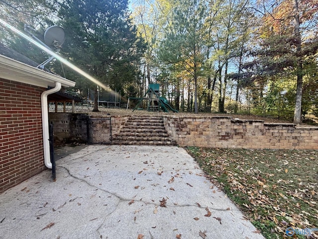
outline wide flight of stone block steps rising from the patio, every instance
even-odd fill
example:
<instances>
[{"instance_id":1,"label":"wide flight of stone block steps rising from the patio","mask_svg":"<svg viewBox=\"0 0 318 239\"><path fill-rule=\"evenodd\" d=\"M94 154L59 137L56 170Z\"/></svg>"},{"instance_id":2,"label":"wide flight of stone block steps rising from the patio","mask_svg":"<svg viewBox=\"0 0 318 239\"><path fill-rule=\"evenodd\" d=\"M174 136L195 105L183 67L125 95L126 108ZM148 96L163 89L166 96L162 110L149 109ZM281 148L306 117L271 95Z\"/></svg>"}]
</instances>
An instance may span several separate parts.
<instances>
[{"instance_id":1,"label":"wide flight of stone block steps rising from the patio","mask_svg":"<svg viewBox=\"0 0 318 239\"><path fill-rule=\"evenodd\" d=\"M161 116L131 116L113 136L112 144L176 145L169 138Z\"/></svg>"}]
</instances>

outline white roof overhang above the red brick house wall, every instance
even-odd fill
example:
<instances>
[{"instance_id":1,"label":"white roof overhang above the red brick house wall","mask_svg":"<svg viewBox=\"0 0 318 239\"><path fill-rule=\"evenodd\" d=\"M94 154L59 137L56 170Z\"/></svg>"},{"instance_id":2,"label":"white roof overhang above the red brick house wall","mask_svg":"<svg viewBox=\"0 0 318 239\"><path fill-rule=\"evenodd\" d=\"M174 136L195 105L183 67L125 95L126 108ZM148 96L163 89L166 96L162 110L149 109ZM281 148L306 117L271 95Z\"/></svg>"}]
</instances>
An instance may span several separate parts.
<instances>
[{"instance_id":1,"label":"white roof overhang above the red brick house wall","mask_svg":"<svg viewBox=\"0 0 318 239\"><path fill-rule=\"evenodd\" d=\"M26 65L3 55L0 55L0 78L44 88L55 87L55 82L60 82L62 87L75 86L74 81Z\"/></svg>"}]
</instances>

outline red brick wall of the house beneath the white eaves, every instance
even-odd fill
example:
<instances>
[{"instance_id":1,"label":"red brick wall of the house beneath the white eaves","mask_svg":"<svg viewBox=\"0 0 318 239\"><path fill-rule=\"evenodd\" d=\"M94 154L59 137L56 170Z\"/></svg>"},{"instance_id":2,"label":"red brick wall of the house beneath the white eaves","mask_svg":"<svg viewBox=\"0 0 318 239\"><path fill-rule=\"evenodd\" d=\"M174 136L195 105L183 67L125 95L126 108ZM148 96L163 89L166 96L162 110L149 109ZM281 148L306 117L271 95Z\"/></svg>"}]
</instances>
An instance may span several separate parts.
<instances>
[{"instance_id":1,"label":"red brick wall of the house beneath the white eaves","mask_svg":"<svg viewBox=\"0 0 318 239\"><path fill-rule=\"evenodd\" d=\"M45 169L41 119L45 90L0 79L0 192Z\"/></svg>"}]
</instances>

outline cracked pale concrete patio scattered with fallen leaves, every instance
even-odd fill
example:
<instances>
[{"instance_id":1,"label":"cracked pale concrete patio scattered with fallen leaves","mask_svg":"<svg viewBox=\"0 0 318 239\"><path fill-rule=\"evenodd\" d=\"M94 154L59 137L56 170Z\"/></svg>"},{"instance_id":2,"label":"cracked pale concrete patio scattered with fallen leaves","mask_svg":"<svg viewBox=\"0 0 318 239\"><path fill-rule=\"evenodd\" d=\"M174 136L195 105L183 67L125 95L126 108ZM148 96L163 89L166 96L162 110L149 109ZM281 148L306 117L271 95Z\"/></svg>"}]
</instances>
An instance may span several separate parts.
<instances>
[{"instance_id":1,"label":"cracked pale concrete patio scattered with fallen leaves","mask_svg":"<svg viewBox=\"0 0 318 239\"><path fill-rule=\"evenodd\" d=\"M0 239L263 239L183 148L70 153L0 194Z\"/></svg>"}]
</instances>

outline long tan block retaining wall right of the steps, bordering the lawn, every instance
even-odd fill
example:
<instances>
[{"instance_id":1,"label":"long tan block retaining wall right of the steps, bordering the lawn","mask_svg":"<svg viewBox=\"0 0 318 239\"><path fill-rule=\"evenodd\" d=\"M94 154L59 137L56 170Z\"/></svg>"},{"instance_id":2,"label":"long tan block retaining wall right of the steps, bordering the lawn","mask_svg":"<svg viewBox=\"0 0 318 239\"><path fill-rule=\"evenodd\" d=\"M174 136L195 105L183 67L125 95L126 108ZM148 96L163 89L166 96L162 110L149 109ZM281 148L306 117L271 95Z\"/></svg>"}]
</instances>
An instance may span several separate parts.
<instances>
[{"instance_id":1,"label":"long tan block retaining wall right of the steps, bordering the lawn","mask_svg":"<svg viewBox=\"0 0 318 239\"><path fill-rule=\"evenodd\" d=\"M168 134L180 146L318 149L318 127L231 117L163 118Z\"/></svg>"}]
</instances>

